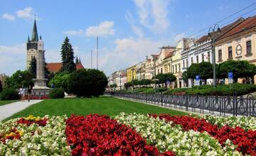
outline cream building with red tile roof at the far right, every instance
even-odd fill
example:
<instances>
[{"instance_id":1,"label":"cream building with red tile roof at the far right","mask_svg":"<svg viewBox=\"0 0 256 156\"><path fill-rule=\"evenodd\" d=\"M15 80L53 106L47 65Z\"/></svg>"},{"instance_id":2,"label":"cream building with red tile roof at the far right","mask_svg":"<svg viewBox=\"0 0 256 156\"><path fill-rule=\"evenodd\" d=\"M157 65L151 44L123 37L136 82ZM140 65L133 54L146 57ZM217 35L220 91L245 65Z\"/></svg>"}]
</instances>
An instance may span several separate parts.
<instances>
[{"instance_id":1,"label":"cream building with red tile roof at the far right","mask_svg":"<svg viewBox=\"0 0 256 156\"><path fill-rule=\"evenodd\" d=\"M216 41L216 63L227 60L247 60L256 65L256 16L240 19L240 21L238 26ZM256 80L256 76L254 79ZM226 79L226 83L227 81ZM238 82L242 82L242 79L238 79Z\"/></svg>"}]
</instances>

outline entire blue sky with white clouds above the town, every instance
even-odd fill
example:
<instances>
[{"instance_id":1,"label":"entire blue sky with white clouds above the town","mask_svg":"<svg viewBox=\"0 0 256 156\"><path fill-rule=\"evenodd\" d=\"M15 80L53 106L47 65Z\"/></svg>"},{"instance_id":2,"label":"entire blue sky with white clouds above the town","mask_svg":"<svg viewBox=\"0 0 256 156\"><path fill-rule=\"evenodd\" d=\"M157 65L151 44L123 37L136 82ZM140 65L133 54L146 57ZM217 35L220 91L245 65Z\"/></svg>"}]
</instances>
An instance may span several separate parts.
<instances>
[{"instance_id":1,"label":"entire blue sky with white clouds above the town","mask_svg":"<svg viewBox=\"0 0 256 156\"><path fill-rule=\"evenodd\" d=\"M213 3L214 2L214 3ZM140 62L162 45L175 45L193 33L254 3L253 0L0 0L0 74L26 67L26 40L31 36L34 13L42 35L46 62L60 62L60 47L70 38L75 55L90 68L90 50L96 67L96 36L100 40L99 69L107 75ZM255 9L235 14L220 25ZM256 11L244 17L254 16Z\"/></svg>"}]
</instances>

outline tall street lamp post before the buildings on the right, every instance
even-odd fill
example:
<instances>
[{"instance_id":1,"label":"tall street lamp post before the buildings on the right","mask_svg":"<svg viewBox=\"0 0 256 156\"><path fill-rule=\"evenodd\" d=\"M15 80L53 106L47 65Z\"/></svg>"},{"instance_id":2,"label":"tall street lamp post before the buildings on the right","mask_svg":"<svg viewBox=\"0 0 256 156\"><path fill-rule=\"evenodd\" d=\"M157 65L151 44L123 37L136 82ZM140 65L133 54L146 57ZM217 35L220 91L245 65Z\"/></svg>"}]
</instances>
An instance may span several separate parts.
<instances>
[{"instance_id":1,"label":"tall street lamp post before the buildings on the right","mask_svg":"<svg viewBox=\"0 0 256 156\"><path fill-rule=\"evenodd\" d=\"M212 39L212 57L213 57L213 86L216 87L216 64L215 64L215 32L220 32L220 27L218 26L218 24L215 24L212 27L209 28L208 30L208 35L211 37Z\"/></svg>"}]
</instances>

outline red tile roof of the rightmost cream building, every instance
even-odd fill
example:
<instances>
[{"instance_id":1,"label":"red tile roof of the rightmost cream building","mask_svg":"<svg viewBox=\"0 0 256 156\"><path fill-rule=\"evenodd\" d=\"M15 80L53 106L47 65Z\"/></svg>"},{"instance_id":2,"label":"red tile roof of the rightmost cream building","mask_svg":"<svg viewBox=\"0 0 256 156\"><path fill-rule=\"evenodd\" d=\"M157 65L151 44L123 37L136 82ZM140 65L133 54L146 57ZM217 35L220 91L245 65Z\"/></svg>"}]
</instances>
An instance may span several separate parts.
<instances>
[{"instance_id":1,"label":"red tile roof of the rightmost cream building","mask_svg":"<svg viewBox=\"0 0 256 156\"><path fill-rule=\"evenodd\" d=\"M242 31L249 30L250 28L256 27L256 16L248 17L242 23L240 23L238 26L230 30L228 33L225 33L222 35L218 40L221 40L223 38L228 38L231 35L235 35L238 33L241 33Z\"/></svg>"}]
</instances>

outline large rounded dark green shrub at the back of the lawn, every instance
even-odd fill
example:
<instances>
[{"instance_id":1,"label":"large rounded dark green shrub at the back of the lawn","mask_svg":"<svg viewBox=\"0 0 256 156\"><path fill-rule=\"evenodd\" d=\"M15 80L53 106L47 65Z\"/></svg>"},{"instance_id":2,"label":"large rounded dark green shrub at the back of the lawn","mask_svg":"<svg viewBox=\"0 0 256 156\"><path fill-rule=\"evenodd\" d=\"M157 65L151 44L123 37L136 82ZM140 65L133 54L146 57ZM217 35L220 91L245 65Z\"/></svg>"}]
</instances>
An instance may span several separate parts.
<instances>
[{"instance_id":1,"label":"large rounded dark green shrub at the back of the lawn","mask_svg":"<svg viewBox=\"0 0 256 156\"><path fill-rule=\"evenodd\" d=\"M77 96L100 96L107 87L106 75L97 69L80 69L70 74L68 91Z\"/></svg>"}]
</instances>

